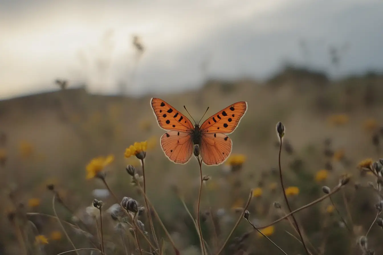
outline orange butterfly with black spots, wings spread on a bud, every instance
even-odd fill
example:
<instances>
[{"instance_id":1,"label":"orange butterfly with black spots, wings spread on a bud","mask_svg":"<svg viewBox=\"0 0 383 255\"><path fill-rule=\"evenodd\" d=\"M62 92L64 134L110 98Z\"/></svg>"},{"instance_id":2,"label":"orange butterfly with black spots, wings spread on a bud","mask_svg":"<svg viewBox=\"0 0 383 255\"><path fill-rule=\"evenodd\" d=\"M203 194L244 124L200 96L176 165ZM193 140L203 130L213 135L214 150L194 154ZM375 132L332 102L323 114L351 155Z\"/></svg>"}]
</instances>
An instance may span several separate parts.
<instances>
[{"instance_id":1,"label":"orange butterfly with black spots, wings spread on a bud","mask_svg":"<svg viewBox=\"0 0 383 255\"><path fill-rule=\"evenodd\" d=\"M247 110L247 102L236 102L212 115L200 127L199 123L193 126L185 115L162 99L152 98L150 104L159 126L167 131L161 136L162 150L170 161L179 164L190 160L195 145L206 165L222 164L232 149L227 135L237 128Z\"/></svg>"}]
</instances>

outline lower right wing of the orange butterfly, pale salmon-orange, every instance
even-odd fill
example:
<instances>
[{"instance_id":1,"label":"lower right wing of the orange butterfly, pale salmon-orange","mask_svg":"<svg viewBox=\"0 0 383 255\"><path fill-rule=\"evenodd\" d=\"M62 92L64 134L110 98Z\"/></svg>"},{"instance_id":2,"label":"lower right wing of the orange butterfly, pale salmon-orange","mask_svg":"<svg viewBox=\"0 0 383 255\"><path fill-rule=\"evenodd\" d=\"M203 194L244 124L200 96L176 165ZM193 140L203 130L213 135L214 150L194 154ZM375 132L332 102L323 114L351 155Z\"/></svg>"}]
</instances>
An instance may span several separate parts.
<instances>
[{"instance_id":1,"label":"lower right wing of the orange butterfly, pale salmon-orange","mask_svg":"<svg viewBox=\"0 0 383 255\"><path fill-rule=\"evenodd\" d=\"M203 133L200 155L206 165L222 164L231 153L232 143L224 133Z\"/></svg>"}]
</instances>

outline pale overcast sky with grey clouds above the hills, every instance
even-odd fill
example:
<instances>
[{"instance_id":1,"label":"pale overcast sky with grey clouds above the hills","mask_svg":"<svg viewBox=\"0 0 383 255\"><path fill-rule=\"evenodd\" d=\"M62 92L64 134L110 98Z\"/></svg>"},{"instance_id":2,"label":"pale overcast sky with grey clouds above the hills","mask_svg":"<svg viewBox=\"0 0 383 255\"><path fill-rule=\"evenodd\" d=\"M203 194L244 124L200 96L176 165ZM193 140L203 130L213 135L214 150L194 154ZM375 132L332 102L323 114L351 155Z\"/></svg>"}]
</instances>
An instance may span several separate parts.
<instances>
[{"instance_id":1,"label":"pale overcast sky with grey clouds above the hills","mask_svg":"<svg viewBox=\"0 0 383 255\"><path fill-rule=\"evenodd\" d=\"M175 92L201 86L203 63L228 79L263 79L286 61L383 70L382 0L0 0L0 34L0 98L56 89L56 78L93 93Z\"/></svg>"}]
</instances>

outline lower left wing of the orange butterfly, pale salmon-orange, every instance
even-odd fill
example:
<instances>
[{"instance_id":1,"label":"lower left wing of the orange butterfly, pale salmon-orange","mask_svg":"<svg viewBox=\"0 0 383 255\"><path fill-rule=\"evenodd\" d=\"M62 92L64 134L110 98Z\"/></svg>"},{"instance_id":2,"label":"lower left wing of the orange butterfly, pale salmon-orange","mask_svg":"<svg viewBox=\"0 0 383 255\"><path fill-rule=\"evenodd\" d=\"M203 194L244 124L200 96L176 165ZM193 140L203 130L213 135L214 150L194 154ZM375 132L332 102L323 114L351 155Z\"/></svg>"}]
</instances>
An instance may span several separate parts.
<instances>
[{"instance_id":1,"label":"lower left wing of the orange butterfly, pale salmon-orange","mask_svg":"<svg viewBox=\"0 0 383 255\"><path fill-rule=\"evenodd\" d=\"M161 137L161 147L168 159L175 163L185 164L193 153L193 141L189 133L168 131Z\"/></svg>"}]
</instances>

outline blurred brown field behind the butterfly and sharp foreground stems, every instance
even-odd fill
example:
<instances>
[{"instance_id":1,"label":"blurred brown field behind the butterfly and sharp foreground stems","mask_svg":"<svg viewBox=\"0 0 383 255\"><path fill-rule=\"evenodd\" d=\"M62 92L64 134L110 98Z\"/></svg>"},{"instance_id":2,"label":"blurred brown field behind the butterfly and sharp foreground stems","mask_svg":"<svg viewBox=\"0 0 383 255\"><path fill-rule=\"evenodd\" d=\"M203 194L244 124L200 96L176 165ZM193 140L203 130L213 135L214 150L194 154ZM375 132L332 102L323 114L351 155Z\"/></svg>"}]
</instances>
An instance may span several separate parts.
<instances>
[{"instance_id":1,"label":"blurred brown field behind the butterfly and sharp foreground stems","mask_svg":"<svg viewBox=\"0 0 383 255\"><path fill-rule=\"evenodd\" d=\"M291 209L326 195L322 186L334 190L331 200L326 197L294 214L309 252L356 255L374 250L382 254L383 229L374 223L383 210L376 209L382 199L376 191L380 184L376 171L368 169L370 164L358 167L364 159L383 158L382 84L379 75L328 81L321 74L285 70L267 83L209 81L201 89L182 94L133 98L68 88L0 101L0 254L59 254L74 247L93 249L78 250L81 255L101 254L101 243L108 255L176 254L172 242L180 254L203 254L193 220L200 188L198 162L173 164L164 156L159 145L164 130L152 114L151 97L164 99L185 115L183 105L187 106L196 120L208 106L206 116L234 102L248 102L246 115L229 135L232 154L244 155L244 162L202 165L203 175L211 177L204 182L200 199L206 254L217 254L223 246L221 254L227 255L283 254L244 218L225 243L252 189L257 188L247 210L255 227L267 226L288 213L278 169L279 121L286 128L283 182L285 187L299 189L298 194L288 196ZM126 211L118 219L108 212L123 197L146 208L141 190L132 185L125 170L132 164L142 175L140 161L124 158L125 149L141 141L148 141L145 181L154 208L149 212L155 237L147 211L136 216L144 223L144 236ZM96 208L94 215L86 208L93 207L92 191L105 189L105 184L99 178L86 179L86 166L92 158L110 154L115 159L103 171L115 197L97 198L103 201L101 235L100 212ZM375 165L379 173L382 166ZM327 171L319 172L322 169ZM348 184L334 188L340 179L349 177ZM47 189L49 184L53 190ZM274 206L275 201L281 208ZM289 217L260 230L287 254L306 254L293 221ZM365 249L358 240L367 232ZM154 248L160 249L153 253Z\"/></svg>"}]
</instances>

